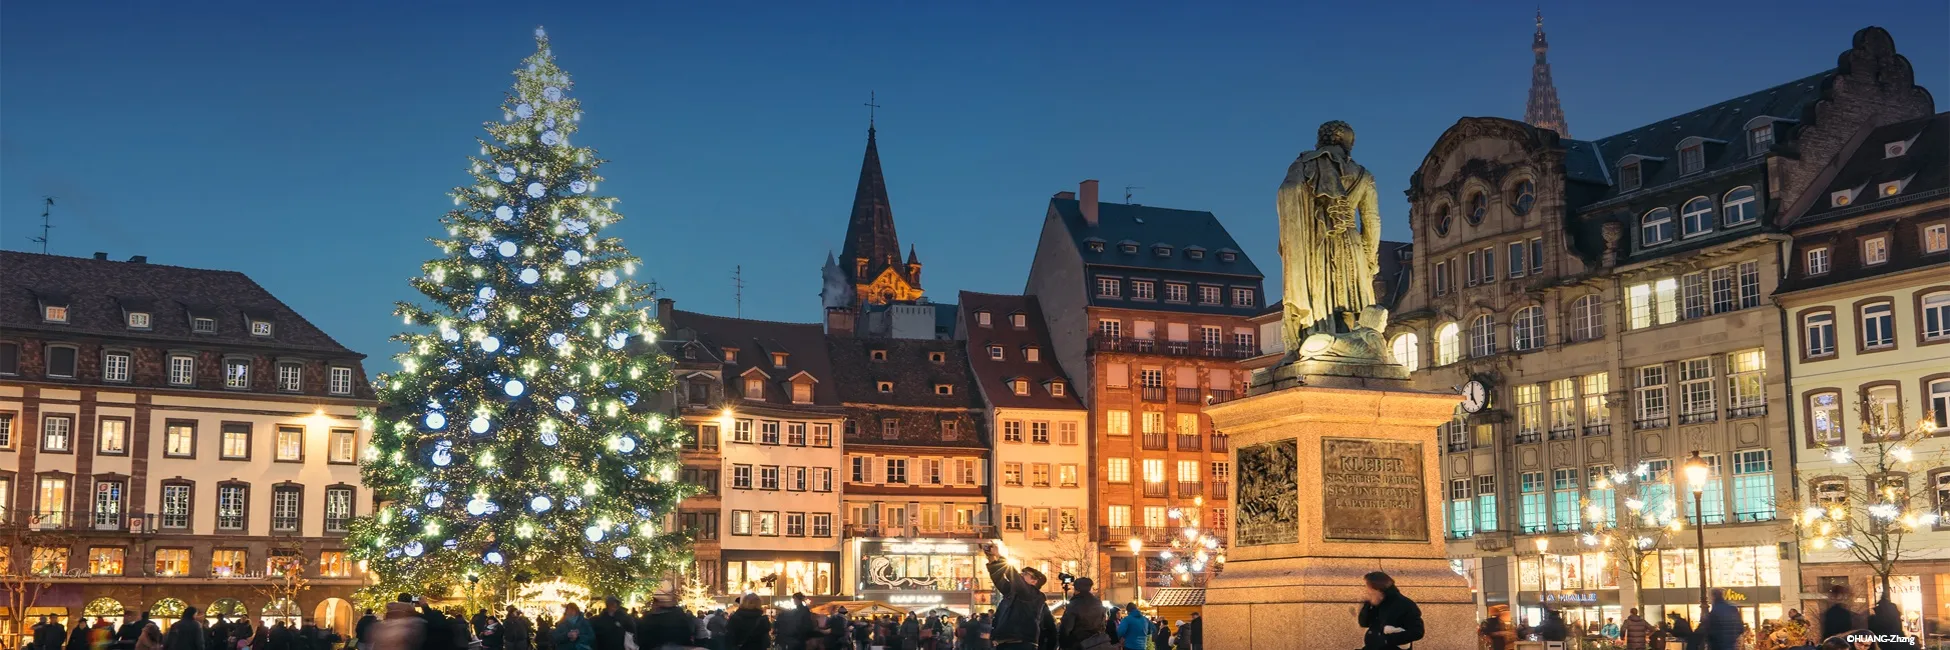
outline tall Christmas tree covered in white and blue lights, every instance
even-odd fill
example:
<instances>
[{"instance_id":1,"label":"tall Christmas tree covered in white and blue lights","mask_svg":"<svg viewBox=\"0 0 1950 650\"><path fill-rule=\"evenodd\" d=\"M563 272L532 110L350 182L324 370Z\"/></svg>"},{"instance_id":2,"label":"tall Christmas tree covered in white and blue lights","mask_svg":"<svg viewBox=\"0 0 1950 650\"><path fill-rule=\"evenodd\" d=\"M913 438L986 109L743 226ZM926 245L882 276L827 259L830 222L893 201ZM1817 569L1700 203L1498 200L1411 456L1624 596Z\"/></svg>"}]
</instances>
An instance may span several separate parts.
<instances>
[{"instance_id":1,"label":"tall Christmas tree covered in white and blue lights","mask_svg":"<svg viewBox=\"0 0 1950 650\"><path fill-rule=\"evenodd\" d=\"M603 162L571 144L583 113L548 35L486 125L474 182L435 238L441 256L400 303L400 371L380 377L365 482L390 500L353 527L372 595L501 593L562 580L640 593L688 554L661 517L679 484L681 427L649 414L671 386L638 260L601 230Z\"/></svg>"}]
</instances>

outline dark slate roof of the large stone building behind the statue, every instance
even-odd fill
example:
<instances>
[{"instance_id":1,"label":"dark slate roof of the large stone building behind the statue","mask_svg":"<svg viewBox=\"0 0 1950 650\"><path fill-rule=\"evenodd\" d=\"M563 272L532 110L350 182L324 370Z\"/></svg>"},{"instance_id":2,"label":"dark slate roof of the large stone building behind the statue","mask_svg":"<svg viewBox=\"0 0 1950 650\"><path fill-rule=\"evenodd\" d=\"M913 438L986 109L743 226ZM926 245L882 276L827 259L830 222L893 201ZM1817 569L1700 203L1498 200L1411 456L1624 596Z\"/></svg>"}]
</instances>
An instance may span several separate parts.
<instances>
[{"instance_id":1,"label":"dark slate roof of the large stone building behind the statue","mask_svg":"<svg viewBox=\"0 0 1950 650\"><path fill-rule=\"evenodd\" d=\"M1704 139L1708 146L1704 146L1704 166L1700 172L1687 176L1712 174L1741 162L1759 160L1747 154L1747 125L1755 117L1773 117L1788 123L1800 121L1808 105L1821 98L1821 86L1831 74L1835 74L1833 68L1821 70L1595 141L1566 139L1566 174L1578 182L1609 185L1609 189L1595 197L1595 201L1605 201L1620 195L1617 166L1626 156L1659 160L1640 166L1640 174L1644 174L1640 187L1650 189L1677 182L1679 144L1689 139ZM1776 137L1780 137L1778 131Z\"/></svg>"}]
</instances>

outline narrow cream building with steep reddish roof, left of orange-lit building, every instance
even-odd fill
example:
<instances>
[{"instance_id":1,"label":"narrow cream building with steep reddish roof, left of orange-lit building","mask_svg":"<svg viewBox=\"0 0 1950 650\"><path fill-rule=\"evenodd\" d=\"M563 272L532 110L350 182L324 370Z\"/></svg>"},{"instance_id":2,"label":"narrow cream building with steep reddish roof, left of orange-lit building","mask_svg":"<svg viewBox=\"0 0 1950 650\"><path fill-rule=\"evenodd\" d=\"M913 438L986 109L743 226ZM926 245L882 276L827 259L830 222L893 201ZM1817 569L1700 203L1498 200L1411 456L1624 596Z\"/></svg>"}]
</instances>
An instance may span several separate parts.
<instances>
[{"instance_id":1,"label":"narrow cream building with steep reddish roof, left of orange-lit building","mask_svg":"<svg viewBox=\"0 0 1950 650\"><path fill-rule=\"evenodd\" d=\"M1057 365L1034 297L963 291L969 371L994 424L989 482L1010 558L1045 576L1096 580L1090 414ZM1061 589L1045 591L1063 597Z\"/></svg>"}]
</instances>

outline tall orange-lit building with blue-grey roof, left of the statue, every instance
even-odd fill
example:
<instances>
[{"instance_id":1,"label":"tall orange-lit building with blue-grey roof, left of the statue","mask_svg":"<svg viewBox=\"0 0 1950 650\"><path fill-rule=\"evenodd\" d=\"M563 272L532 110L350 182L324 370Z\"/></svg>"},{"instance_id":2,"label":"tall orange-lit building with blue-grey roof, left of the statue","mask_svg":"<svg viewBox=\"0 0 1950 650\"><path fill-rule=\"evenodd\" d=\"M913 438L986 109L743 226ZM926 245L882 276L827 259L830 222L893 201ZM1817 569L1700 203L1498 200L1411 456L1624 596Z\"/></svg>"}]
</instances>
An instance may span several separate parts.
<instances>
[{"instance_id":1,"label":"tall orange-lit building with blue-grey roof, left of the statue","mask_svg":"<svg viewBox=\"0 0 1950 650\"><path fill-rule=\"evenodd\" d=\"M1094 180L1049 199L1024 293L1090 408L1098 576L1110 578L1098 584L1110 599L1129 599L1139 570L1152 586L1170 580L1156 552L1182 527L1172 508L1203 500L1205 527L1228 523L1230 453L1203 406L1244 396L1262 279L1213 213L1100 203Z\"/></svg>"}]
</instances>

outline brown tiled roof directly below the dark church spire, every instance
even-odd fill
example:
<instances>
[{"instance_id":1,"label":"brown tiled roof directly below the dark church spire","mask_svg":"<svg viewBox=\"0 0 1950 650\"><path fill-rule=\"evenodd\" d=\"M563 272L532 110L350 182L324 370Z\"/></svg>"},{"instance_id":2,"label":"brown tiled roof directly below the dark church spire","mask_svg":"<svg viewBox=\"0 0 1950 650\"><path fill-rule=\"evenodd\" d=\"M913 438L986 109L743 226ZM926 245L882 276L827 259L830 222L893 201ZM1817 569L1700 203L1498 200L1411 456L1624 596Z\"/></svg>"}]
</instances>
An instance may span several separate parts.
<instances>
[{"instance_id":1,"label":"brown tiled roof directly below the dark church spire","mask_svg":"<svg viewBox=\"0 0 1950 650\"><path fill-rule=\"evenodd\" d=\"M876 349L885 351L885 359L876 361ZM835 336L827 338L827 353L846 404L981 408L961 342ZM940 353L942 361L928 361L930 353ZM893 392L879 392L881 381L891 381ZM952 394L936 394L936 385L954 386Z\"/></svg>"}]
</instances>

